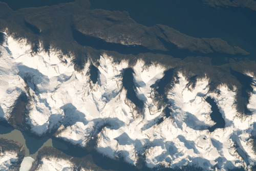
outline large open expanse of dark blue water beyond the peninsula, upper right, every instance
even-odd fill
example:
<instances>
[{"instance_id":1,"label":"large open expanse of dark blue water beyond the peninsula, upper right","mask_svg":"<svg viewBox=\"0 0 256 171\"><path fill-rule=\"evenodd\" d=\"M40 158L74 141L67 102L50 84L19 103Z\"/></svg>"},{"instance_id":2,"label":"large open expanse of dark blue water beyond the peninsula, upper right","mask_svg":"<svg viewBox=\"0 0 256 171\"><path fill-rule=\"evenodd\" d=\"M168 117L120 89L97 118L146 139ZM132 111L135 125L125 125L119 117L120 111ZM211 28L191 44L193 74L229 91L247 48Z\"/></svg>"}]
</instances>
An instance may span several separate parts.
<instances>
[{"instance_id":1,"label":"large open expanse of dark blue water beyond the peninsula, upper right","mask_svg":"<svg viewBox=\"0 0 256 171\"><path fill-rule=\"evenodd\" d=\"M215 9L200 0L91 0L91 9L130 13L145 26L167 25L193 37L220 37L232 46L256 54L256 11L242 8ZM253 55L250 56L254 58Z\"/></svg>"}]
</instances>

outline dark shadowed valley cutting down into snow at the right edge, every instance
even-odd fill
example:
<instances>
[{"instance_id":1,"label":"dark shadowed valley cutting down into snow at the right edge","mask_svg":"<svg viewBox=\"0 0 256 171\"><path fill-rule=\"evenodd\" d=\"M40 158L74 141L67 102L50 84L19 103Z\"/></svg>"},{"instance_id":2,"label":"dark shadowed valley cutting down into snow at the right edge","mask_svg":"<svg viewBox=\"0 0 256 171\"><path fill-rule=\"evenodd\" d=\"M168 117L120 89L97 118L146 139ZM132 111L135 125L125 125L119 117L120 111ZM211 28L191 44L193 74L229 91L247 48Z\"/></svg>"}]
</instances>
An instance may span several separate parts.
<instances>
[{"instance_id":1,"label":"dark shadowed valley cutting down into snow at the right edge","mask_svg":"<svg viewBox=\"0 0 256 171\"><path fill-rule=\"evenodd\" d=\"M244 113L246 115L250 115L251 112L247 108L247 104L249 103L249 98L251 97L251 93L253 92L252 85L255 86L255 82L252 77L242 74L240 72L230 70L230 73L237 78L237 80L241 83L241 89L237 91L236 96L236 104L237 110L240 113Z\"/></svg>"}]
</instances>

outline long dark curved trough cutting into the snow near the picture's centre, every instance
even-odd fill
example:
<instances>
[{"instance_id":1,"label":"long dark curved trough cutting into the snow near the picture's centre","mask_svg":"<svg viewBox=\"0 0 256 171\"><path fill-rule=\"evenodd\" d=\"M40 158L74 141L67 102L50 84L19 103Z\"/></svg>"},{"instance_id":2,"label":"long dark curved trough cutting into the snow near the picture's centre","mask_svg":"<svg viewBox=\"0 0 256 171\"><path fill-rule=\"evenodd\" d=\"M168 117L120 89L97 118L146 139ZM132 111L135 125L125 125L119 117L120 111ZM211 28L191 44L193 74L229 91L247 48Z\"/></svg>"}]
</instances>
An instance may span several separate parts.
<instances>
[{"instance_id":1,"label":"long dark curved trough cutting into the snow near the picture's centre","mask_svg":"<svg viewBox=\"0 0 256 171\"><path fill-rule=\"evenodd\" d=\"M136 87L134 84L133 69L127 68L123 72L123 87L127 90L127 98L130 99L137 107L142 108L144 103L136 95Z\"/></svg>"}]
</instances>

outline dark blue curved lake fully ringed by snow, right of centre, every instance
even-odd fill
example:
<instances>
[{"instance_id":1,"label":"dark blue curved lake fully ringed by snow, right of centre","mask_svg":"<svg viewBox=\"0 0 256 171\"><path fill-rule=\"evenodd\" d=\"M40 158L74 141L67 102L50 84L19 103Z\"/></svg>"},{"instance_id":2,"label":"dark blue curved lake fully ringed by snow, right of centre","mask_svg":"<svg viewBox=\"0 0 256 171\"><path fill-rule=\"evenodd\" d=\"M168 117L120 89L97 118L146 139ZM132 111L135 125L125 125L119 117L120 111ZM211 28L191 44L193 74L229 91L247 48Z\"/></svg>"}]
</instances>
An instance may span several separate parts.
<instances>
[{"instance_id":1,"label":"dark blue curved lake fully ringed by snow, right of centre","mask_svg":"<svg viewBox=\"0 0 256 171\"><path fill-rule=\"evenodd\" d=\"M209 132L214 132L214 130L217 128L224 128L225 120L223 119L214 99L207 97L205 100L211 105L211 111L212 111L210 114L211 120L216 122L215 125L208 128Z\"/></svg>"}]
</instances>

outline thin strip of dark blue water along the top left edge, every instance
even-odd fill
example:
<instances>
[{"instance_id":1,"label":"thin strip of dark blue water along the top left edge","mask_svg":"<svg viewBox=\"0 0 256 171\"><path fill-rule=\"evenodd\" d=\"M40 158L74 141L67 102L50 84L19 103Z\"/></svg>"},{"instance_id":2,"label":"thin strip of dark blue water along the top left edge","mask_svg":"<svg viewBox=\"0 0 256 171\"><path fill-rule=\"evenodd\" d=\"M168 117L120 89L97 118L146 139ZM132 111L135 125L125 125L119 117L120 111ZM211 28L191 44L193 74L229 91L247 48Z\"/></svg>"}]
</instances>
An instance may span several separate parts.
<instances>
[{"instance_id":1,"label":"thin strip of dark blue water along the top left edge","mask_svg":"<svg viewBox=\"0 0 256 171\"><path fill-rule=\"evenodd\" d=\"M8 4L8 6L15 11L21 8L43 7L57 5L59 3L75 2L75 0L1 0L0 2Z\"/></svg>"}]
</instances>

